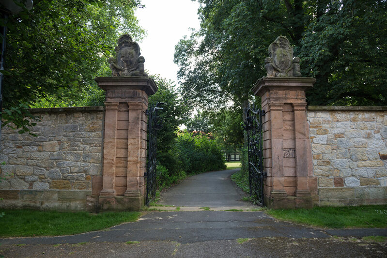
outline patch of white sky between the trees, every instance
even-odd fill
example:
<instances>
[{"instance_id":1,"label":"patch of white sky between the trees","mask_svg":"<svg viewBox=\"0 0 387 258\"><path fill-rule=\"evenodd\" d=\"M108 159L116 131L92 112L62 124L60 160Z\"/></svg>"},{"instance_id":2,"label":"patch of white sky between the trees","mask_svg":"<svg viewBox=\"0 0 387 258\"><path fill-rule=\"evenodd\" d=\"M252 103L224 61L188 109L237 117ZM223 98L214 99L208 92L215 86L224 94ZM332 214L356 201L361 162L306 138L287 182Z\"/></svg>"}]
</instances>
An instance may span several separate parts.
<instances>
[{"instance_id":1,"label":"patch of white sky between the trees","mask_svg":"<svg viewBox=\"0 0 387 258\"><path fill-rule=\"evenodd\" d=\"M145 8L139 8L135 15L147 31L147 36L139 42L145 69L177 84L175 45L184 35L191 34L189 28L199 29L199 3L191 0L141 0L141 3Z\"/></svg>"}]
</instances>

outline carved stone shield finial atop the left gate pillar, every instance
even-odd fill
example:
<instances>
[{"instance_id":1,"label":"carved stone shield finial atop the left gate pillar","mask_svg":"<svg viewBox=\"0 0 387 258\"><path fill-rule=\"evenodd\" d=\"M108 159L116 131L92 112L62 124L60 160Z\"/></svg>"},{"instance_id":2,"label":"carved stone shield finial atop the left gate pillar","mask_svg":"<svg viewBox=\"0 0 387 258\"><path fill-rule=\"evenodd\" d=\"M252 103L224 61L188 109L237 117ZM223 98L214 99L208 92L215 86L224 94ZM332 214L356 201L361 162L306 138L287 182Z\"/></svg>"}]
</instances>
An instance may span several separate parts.
<instances>
[{"instance_id":1,"label":"carved stone shield finial atop the left gate pillar","mask_svg":"<svg viewBox=\"0 0 387 258\"><path fill-rule=\"evenodd\" d=\"M129 34L118 39L116 56L109 58L111 76L148 76L144 72L145 59L141 57L139 44Z\"/></svg>"}]
</instances>

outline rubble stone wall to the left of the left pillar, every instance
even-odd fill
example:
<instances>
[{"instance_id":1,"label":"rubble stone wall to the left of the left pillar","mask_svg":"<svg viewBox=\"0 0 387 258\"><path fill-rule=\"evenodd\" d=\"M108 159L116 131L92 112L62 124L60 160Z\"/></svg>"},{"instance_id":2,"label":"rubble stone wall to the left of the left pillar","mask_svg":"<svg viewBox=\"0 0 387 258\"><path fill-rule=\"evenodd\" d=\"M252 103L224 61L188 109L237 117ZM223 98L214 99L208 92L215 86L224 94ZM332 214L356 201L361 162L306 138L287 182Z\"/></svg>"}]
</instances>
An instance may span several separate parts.
<instances>
[{"instance_id":1,"label":"rubble stone wall to the left of the left pillar","mask_svg":"<svg viewBox=\"0 0 387 258\"><path fill-rule=\"evenodd\" d=\"M32 109L31 133L4 127L0 207L95 210L102 187L104 108ZM5 178L5 180L4 180Z\"/></svg>"}]
</instances>

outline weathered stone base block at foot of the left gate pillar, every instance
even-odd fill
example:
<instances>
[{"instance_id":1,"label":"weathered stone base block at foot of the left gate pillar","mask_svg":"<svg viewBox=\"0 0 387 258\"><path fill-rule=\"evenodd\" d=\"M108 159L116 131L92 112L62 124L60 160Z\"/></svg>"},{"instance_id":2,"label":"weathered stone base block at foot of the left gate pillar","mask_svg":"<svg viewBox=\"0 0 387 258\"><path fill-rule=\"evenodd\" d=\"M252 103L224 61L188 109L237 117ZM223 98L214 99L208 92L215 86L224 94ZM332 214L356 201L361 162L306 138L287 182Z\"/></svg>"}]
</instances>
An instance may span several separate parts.
<instances>
[{"instance_id":1,"label":"weathered stone base block at foot of the left gate pillar","mask_svg":"<svg viewBox=\"0 0 387 258\"><path fill-rule=\"evenodd\" d=\"M133 211L139 212L144 207L145 196L140 197L102 197L98 198L100 211Z\"/></svg>"}]
</instances>

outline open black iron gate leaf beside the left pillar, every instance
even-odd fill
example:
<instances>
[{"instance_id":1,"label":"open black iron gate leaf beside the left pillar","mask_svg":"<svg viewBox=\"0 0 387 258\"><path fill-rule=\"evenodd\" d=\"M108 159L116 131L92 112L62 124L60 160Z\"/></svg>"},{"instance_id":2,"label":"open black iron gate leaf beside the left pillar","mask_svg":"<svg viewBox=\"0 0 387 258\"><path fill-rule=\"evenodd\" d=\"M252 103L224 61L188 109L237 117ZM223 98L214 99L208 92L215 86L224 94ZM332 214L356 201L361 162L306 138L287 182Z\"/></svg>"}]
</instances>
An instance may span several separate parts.
<instances>
[{"instance_id":1,"label":"open black iron gate leaf beside the left pillar","mask_svg":"<svg viewBox=\"0 0 387 258\"><path fill-rule=\"evenodd\" d=\"M148 116L148 160L146 166L146 197L145 204L155 198L157 189L157 171L156 171L156 150L157 150L157 131L161 128L161 121L158 116L158 110L161 102L157 102L155 106L149 106L146 110Z\"/></svg>"}]
</instances>

